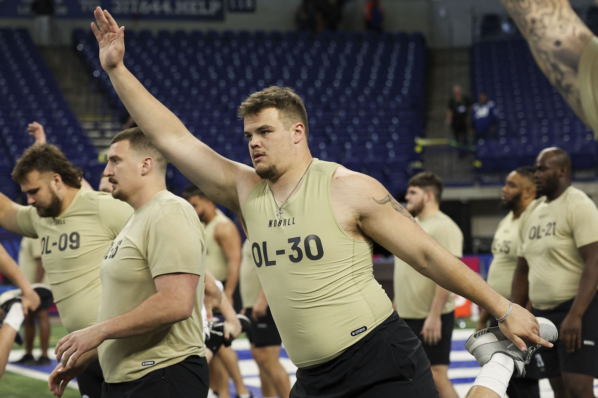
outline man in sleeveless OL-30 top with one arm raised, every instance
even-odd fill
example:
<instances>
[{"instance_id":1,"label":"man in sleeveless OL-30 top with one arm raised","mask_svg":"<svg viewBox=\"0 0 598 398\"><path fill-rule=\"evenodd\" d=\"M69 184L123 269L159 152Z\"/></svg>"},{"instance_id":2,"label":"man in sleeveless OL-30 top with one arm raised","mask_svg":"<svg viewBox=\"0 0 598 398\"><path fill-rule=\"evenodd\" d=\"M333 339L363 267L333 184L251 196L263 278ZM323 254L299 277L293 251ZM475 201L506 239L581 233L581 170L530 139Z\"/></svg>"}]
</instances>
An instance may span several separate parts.
<instances>
[{"instance_id":1,"label":"man in sleeveless OL-30 top with one arm raised","mask_svg":"<svg viewBox=\"0 0 598 398\"><path fill-rule=\"evenodd\" d=\"M238 114L255 169L227 160L130 74L124 27L100 7L94 16L100 63L130 115L191 182L240 215L274 321L299 368L291 397L437 396L419 339L374 279L373 240L501 319L521 351L521 338L550 347L531 314L438 245L381 183L312 157L297 93L272 86L249 96Z\"/></svg>"}]
</instances>

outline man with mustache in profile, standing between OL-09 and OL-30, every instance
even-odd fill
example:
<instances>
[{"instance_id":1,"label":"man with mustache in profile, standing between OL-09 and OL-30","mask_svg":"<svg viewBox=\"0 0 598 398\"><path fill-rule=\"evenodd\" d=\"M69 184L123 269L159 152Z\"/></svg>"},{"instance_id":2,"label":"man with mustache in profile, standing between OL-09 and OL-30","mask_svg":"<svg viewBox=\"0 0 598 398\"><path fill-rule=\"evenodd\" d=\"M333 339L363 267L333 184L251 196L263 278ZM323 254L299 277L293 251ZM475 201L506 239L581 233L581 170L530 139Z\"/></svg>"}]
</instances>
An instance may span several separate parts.
<instances>
[{"instance_id":1,"label":"man with mustache in profile, standing between OL-09 and OL-30","mask_svg":"<svg viewBox=\"0 0 598 398\"><path fill-rule=\"evenodd\" d=\"M139 127L112 139L104 174L112 197L135 212L102 257L98 323L56 345L55 394L69 381L61 388L58 373L78 373L96 358L104 398L208 393L205 231L193 206L166 190L166 164Z\"/></svg>"}]
</instances>

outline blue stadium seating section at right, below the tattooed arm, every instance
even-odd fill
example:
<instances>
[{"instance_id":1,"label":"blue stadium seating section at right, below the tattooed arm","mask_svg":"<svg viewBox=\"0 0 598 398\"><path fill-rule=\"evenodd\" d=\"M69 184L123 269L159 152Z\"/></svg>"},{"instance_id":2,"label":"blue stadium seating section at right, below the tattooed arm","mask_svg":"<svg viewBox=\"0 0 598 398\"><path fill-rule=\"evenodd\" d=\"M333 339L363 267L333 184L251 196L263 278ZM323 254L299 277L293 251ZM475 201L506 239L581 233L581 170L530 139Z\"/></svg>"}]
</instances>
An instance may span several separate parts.
<instances>
[{"instance_id":1,"label":"blue stadium seating section at right, below the tattooed arm","mask_svg":"<svg viewBox=\"0 0 598 398\"><path fill-rule=\"evenodd\" d=\"M499 113L493 136L477 142L483 172L530 166L547 146L568 151L573 169L596 166L593 133L542 74L523 39L474 44L471 63L474 97L485 91Z\"/></svg>"}]
</instances>

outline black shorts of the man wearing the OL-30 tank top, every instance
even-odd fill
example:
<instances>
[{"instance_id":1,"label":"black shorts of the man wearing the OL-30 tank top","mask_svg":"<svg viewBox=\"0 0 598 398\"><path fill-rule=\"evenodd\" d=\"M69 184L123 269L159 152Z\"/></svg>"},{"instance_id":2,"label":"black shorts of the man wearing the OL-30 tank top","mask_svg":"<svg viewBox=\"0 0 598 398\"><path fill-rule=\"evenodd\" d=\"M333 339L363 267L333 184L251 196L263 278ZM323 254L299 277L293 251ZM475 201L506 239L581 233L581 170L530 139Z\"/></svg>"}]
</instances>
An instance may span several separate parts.
<instances>
[{"instance_id":1,"label":"black shorts of the man wearing the OL-30 tank top","mask_svg":"<svg viewBox=\"0 0 598 398\"><path fill-rule=\"evenodd\" d=\"M422 343L396 311L340 356L297 369L291 398L438 398Z\"/></svg>"}]
</instances>

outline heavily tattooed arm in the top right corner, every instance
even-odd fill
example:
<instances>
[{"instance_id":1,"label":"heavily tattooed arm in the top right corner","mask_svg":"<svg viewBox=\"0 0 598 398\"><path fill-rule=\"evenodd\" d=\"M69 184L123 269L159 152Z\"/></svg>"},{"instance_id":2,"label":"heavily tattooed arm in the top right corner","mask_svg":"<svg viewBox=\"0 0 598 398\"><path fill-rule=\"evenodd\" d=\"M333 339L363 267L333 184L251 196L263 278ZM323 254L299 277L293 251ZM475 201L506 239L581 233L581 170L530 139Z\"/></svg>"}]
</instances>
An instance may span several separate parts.
<instances>
[{"instance_id":1,"label":"heavily tattooed arm in the top right corner","mask_svg":"<svg viewBox=\"0 0 598 398\"><path fill-rule=\"evenodd\" d=\"M579 59L593 33L569 0L501 0L527 40L539 68L584 120L577 73Z\"/></svg>"}]
</instances>

